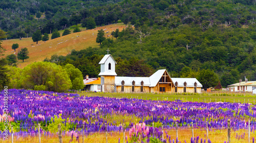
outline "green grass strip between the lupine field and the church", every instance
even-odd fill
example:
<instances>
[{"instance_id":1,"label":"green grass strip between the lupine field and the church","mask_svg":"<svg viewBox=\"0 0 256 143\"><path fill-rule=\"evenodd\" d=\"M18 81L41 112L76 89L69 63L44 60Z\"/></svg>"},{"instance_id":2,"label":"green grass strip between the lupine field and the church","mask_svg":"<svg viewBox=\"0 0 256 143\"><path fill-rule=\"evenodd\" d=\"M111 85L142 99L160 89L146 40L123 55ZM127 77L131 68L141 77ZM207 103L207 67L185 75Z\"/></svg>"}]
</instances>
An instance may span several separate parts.
<instances>
[{"instance_id":1,"label":"green grass strip between the lupine field and the church","mask_svg":"<svg viewBox=\"0 0 256 143\"><path fill-rule=\"evenodd\" d=\"M138 98L144 100L177 100L180 99L184 102L241 102L241 103L252 103L255 104L255 95L251 94L232 94L232 93L202 93L202 94L141 94L141 93L90 93L81 92L79 95L84 96L104 96L104 97L123 97L123 98ZM226 95L226 96L224 96ZM229 95L229 96L227 96Z\"/></svg>"}]
</instances>

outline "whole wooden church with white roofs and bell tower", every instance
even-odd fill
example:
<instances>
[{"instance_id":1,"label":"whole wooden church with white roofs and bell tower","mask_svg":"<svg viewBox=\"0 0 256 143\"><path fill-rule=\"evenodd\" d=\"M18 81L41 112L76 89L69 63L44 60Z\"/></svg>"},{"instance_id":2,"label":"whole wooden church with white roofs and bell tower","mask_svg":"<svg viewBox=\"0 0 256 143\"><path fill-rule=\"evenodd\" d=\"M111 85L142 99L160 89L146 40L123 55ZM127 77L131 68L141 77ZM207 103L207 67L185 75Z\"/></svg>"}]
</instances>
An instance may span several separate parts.
<instances>
[{"instance_id":1,"label":"whole wooden church with white roofs and bell tower","mask_svg":"<svg viewBox=\"0 0 256 143\"><path fill-rule=\"evenodd\" d=\"M99 64L101 92L201 93L202 84L196 78L171 78L165 69L150 77L124 77L117 76L111 54L106 54Z\"/></svg>"}]
</instances>

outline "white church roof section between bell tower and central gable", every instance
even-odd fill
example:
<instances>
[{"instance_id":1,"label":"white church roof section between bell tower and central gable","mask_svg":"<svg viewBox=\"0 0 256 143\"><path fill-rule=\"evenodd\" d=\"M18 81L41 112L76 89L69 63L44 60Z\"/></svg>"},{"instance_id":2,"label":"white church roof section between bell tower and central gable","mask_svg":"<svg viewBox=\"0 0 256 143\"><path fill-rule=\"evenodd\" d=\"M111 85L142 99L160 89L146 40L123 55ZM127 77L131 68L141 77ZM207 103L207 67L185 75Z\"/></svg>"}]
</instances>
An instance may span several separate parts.
<instances>
[{"instance_id":1,"label":"white church roof section between bell tower and central gable","mask_svg":"<svg viewBox=\"0 0 256 143\"><path fill-rule=\"evenodd\" d=\"M132 82L135 81L135 86L140 86L141 81L144 82L143 86L150 86L150 78L149 77L125 77L125 76L116 76L115 84L122 85L122 81L124 81L124 85L132 86Z\"/></svg>"}]
</instances>

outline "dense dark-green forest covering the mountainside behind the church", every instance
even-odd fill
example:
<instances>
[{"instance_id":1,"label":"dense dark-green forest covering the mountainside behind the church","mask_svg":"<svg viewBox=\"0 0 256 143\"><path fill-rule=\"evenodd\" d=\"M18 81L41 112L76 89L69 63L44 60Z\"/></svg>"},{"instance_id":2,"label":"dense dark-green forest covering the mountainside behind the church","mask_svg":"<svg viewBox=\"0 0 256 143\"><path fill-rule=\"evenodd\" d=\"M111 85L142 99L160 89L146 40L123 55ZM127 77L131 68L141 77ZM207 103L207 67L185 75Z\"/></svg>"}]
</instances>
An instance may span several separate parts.
<instances>
[{"instance_id":1,"label":"dense dark-green forest covering the mountainside behind the church","mask_svg":"<svg viewBox=\"0 0 256 143\"><path fill-rule=\"evenodd\" d=\"M172 77L198 77L200 71L209 69L215 72L223 87L244 79L244 76L256 80L254 1L125 0L89 3L56 0L44 3L44 10L41 10L42 2L33 1L29 6L34 11L27 7L26 14L18 13L17 9L27 2L3 1L0 4L0 27L9 38L18 38L20 31L27 33L27 26L31 27L28 35L38 28L41 33L51 33L54 29L78 23L83 25L89 18L93 18L97 26L120 20L127 24L115 38L106 38L99 47L73 50L67 56L53 55L51 59L45 59L61 66L72 64L83 76L98 76L98 62L109 48L119 63L117 73L120 74L124 72L124 66L127 69L125 75L129 75L130 70L139 65L141 68L133 75L149 76L164 68ZM14 5L7 5L9 3ZM71 3L74 6L67 7ZM11 11L15 13L8 15ZM36 13L44 14L46 18L35 18ZM17 17L16 21L7 15ZM8 20L14 27L5 25L8 22L4 21Z\"/></svg>"}]
</instances>

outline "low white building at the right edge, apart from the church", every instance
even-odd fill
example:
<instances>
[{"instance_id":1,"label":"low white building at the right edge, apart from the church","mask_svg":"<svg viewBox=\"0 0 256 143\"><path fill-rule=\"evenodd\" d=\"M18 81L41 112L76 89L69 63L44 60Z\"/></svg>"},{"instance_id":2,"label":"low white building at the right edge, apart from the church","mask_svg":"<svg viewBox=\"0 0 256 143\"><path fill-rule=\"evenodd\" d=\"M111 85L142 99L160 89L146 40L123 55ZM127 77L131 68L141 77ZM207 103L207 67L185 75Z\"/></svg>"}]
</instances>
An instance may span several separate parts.
<instances>
[{"instance_id":1,"label":"low white building at the right edge, apart from the church","mask_svg":"<svg viewBox=\"0 0 256 143\"><path fill-rule=\"evenodd\" d=\"M228 87L230 92L252 92L252 90L256 89L256 81L246 80L228 85Z\"/></svg>"}]
</instances>

